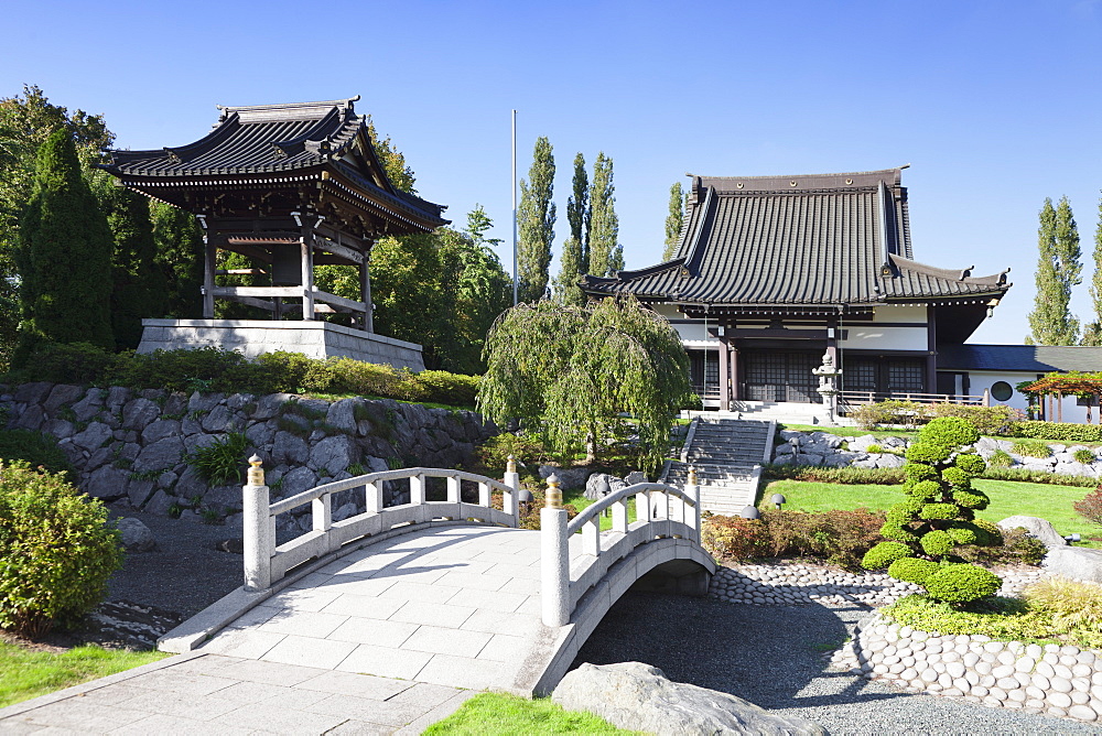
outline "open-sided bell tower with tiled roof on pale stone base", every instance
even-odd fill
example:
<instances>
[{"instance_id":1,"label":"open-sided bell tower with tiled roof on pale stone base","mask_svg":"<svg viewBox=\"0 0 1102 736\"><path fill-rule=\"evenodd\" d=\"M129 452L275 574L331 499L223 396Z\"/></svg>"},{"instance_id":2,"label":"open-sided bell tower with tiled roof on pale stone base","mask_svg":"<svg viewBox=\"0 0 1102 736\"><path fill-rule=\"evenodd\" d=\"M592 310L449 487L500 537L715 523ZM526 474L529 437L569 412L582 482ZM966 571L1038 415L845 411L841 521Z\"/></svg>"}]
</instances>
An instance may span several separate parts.
<instances>
[{"instance_id":1,"label":"open-sided bell tower with tiled roof on pale stone base","mask_svg":"<svg viewBox=\"0 0 1102 736\"><path fill-rule=\"evenodd\" d=\"M419 345L375 334L368 264L378 238L449 220L443 206L390 182L357 99L223 107L194 143L111 151L104 169L122 185L194 213L206 234L203 320L145 321L140 351L218 345L248 356L290 349L424 367ZM219 249L259 261L271 285L216 285ZM321 264L356 267L359 299L318 291ZM260 307L271 320L215 320L219 299ZM321 320L333 313L350 315L350 326Z\"/></svg>"}]
</instances>

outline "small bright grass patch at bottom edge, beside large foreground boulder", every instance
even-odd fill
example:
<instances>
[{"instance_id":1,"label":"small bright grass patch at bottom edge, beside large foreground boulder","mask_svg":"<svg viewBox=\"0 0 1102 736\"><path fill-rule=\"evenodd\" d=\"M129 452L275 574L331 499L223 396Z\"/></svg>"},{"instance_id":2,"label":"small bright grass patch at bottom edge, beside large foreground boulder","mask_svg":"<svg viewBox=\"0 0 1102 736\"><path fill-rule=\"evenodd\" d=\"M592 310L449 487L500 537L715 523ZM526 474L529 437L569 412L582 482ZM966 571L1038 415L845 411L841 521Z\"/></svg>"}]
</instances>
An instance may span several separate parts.
<instances>
[{"instance_id":1,"label":"small bright grass patch at bottom edge, beside large foreground boulder","mask_svg":"<svg viewBox=\"0 0 1102 736\"><path fill-rule=\"evenodd\" d=\"M458 711L429 726L425 736L538 736L540 734L635 734L592 713L564 711L549 699L528 700L505 693L482 693Z\"/></svg>"}]
</instances>

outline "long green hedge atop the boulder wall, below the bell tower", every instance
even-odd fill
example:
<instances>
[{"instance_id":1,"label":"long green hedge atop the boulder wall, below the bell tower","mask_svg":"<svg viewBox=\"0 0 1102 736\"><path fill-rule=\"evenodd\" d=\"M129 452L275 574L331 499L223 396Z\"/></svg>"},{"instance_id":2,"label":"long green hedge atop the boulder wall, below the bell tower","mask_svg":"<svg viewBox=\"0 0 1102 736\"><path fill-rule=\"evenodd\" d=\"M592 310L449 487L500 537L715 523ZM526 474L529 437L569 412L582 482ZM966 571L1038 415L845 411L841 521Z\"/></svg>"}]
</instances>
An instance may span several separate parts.
<instances>
[{"instance_id":1,"label":"long green hedge atop the boulder wall, below the bell tower","mask_svg":"<svg viewBox=\"0 0 1102 736\"><path fill-rule=\"evenodd\" d=\"M93 345L48 344L9 382L50 381L126 386L170 391L224 393L357 393L401 401L474 407L478 376L425 370L414 374L352 358L315 360L277 350L249 360L240 353L202 347L194 350L131 351L112 355Z\"/></svg>"}]
</instances>

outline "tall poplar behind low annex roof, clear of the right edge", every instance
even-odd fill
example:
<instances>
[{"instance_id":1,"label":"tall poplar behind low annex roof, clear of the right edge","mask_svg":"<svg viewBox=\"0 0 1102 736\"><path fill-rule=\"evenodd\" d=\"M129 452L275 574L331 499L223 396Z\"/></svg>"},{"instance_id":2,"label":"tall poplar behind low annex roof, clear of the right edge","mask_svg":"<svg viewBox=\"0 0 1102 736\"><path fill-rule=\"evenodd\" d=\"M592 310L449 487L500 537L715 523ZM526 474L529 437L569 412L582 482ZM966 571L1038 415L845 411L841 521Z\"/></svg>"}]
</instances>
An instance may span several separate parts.
<instances>
[{"instance_id":1,"label":"tall poplar behind low annex roof, clear of the right edge","mask_svg":"<svg viewBox=\"0 0 1102 736\"><path fill-rule=\"evenodd\" d=\"M1077 345L1079 320L1071 315L1071 288L1081 283L1079 232L1068 197L1045 199L1037 230L1037 295L1029 313L1027 345Z\"/></svg>"}]
</instances>

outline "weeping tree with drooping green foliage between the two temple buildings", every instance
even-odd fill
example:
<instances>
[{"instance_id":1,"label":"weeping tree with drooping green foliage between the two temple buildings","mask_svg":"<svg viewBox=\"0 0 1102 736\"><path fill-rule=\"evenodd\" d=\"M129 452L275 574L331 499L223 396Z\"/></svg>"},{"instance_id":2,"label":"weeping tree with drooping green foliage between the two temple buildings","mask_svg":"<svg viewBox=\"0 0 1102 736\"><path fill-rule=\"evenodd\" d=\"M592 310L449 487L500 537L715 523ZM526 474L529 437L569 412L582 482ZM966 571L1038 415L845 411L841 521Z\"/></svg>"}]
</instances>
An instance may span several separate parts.
<instances>
[{"instance_id":1,"label":"weeping tree with drooping green foliage between the two temple buildings","mask_svg":"<svg viewBox=\"0 0 1102 736\"><path fill-rule=\"evenodd\" d=\"M519 304L494 323L484 358L479 410L586 462L630 421L640 462L657 465L678 411L695 401L677 332L630 296Z\"/></svg>"}]
</instances>

